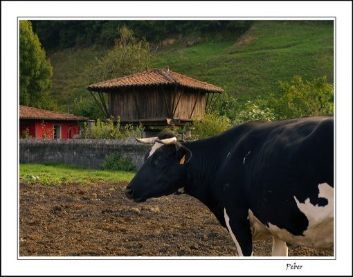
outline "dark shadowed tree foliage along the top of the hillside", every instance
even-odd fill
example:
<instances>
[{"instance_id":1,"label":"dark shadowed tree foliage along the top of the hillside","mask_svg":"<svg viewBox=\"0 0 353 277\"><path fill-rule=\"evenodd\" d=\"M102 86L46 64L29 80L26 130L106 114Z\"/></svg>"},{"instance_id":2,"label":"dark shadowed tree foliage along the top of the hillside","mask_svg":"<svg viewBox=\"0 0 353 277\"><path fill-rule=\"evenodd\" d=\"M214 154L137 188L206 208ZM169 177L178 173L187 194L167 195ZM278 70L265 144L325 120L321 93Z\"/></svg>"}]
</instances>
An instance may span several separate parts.
<instances>
[{"instance_id":1,"label":"dark shadowed tree foliage along the top of the hillside","mask_svg":"<svg viewBox=\"0 0 353 277\"><path fill-rule=\"evenodd\" d=\"M253 21L244 20L33 20L33 30L47 50L84 47L98 44L113 46L117 30L127 26L134 35L149 42L158 42L182 33L244 33Z\"/></svg>"}]
</instances>

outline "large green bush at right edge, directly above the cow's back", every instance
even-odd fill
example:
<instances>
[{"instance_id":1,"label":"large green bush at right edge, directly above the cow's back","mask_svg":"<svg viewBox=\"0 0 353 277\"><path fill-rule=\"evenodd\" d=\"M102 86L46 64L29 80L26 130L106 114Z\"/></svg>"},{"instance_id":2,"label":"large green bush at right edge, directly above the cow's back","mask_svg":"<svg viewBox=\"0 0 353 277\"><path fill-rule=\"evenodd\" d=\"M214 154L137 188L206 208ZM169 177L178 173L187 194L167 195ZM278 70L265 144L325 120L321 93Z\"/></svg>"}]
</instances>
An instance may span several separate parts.
<instances>
[{"instance_id":1,"label":"large green bush at right edge, directly above the cow's back","mask_svg":"<svg viewBox=\"0 0 353 277\"><path fill-rule=\"evenodd\" d=\"M291 81L280 81L280 97L271 96L269 104L276 118L296 118L333 114L334 86L326 76L313 80L302 80L295 76Z\"/></svg>"}]
</instances>

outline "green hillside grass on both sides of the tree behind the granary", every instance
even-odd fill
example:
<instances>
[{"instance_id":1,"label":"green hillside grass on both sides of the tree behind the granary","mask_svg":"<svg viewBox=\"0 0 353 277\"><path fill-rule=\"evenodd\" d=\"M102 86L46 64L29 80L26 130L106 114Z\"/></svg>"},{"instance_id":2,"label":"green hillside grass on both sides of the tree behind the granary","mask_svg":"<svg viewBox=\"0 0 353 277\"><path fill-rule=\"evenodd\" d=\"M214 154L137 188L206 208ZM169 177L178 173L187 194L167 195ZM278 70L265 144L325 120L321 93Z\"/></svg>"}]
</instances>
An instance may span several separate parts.
<instances>
[{"instance_id":1,"label":"green hillside grass on both sides of the tree behind the granary","mask_svg":"<svg viewBox=\"0 0 353 277\"><path fill-rule=\"evenodd\" d=\"M151 68L171 70L216 84L239 100L265 96L278 90L278 80L294 75L312 79L334 78L334 28L327 21L255 21L239 39L203 38L186 47L175 44L153 54ZM90 97L84 68L104 50L84 48L50 55L53 65L51 93L67 109L74 98Z\"/></svg>"}]
</instances>

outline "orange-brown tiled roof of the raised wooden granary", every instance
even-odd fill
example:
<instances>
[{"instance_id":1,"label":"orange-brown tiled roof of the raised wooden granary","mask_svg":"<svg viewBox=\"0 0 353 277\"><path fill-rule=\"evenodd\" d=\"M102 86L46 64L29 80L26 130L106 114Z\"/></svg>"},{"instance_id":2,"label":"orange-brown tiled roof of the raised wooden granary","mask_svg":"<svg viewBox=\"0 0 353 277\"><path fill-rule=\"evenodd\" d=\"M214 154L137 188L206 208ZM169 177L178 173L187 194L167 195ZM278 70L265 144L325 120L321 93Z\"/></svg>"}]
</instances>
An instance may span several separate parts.
<instances>
[{"instance_id":1,"label":"orange-brown tiled roof of the raised wooden granary","mask_svg":"<svg viewBox=\"0 0 353 277\"><path fill-rule=\"evenodd\" d=\"M147 69L146 71L134 75L91 84L87 89L89 91L111 91L111 89L119 89L122 87L161 86L165 84L178 84L181 87L200 89L206 92L221 93L224 91L221 87L195 80L169 69Z\"/></svg>"}]
</instances>

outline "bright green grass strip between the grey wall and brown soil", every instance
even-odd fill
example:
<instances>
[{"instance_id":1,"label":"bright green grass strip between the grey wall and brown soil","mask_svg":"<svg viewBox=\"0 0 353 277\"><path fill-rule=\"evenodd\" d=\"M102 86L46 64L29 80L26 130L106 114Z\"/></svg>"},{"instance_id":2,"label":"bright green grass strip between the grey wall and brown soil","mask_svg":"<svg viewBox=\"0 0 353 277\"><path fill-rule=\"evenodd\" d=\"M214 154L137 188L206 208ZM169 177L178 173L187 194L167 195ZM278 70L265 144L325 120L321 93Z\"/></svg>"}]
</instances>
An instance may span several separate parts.
<instances>
[{"instance_id":1,"label":"bright green grass strip between the grey wall and brown soil","mask_svg":"<svg viewBox=\"0 0 353 277\"><path fill-rule=\"evenodd\" d=\"M19 178L21 181L35 181L30 175L39 177L38 181L47 186L62 183L92 184L97 181L131 181L134 172L89 170L64 163L21 163Z\"/></svg>"}]
</instances>

